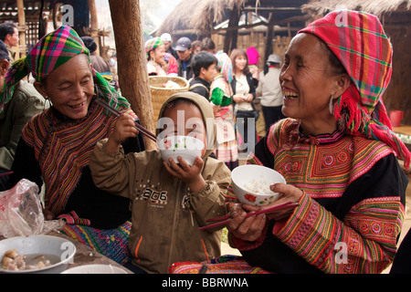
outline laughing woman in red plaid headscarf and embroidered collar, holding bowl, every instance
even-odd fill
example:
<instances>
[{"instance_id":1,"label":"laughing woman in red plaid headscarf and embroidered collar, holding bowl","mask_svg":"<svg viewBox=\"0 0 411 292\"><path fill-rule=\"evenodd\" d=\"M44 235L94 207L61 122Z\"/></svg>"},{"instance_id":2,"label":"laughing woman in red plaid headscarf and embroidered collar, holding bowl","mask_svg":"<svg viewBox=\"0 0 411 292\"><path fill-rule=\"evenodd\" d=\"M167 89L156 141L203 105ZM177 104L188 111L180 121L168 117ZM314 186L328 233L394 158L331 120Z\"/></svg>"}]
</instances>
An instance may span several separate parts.
<instances>
[{"instance_id":1,"label":"laughing woman in red plaid headscarf and embroidered collar, holding bowl","mask_svg":"<svg viewBox=\"0 0 411 292\"><path fill-rule=\"evenodd\" d=\"M231 205L230 244L250 266L381 273L390 265L407 185L397 157L406 169L411 160L382 99L391 73L392 47L376 16L334 11L292 38L279 77L289 118L270 128L248 163L287 181L270 186L281 196L267 207L298 206L246 218L258 208Z\"/></svg>"}]
</instances>

